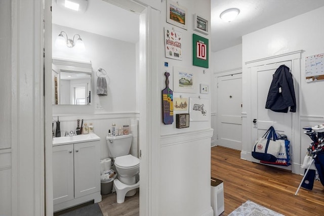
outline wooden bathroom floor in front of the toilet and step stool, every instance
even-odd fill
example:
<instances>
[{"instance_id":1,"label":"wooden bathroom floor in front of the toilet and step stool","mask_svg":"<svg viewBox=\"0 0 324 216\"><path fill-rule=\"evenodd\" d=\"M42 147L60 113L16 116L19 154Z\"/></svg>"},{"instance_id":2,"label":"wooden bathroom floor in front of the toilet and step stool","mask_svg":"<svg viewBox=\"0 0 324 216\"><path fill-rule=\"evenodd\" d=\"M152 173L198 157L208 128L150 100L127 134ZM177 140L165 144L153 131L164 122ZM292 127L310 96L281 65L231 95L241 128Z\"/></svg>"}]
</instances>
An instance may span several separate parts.
<instances>
[{"instance_id":1,"label":"wooden bathroom floor in front of the toilet and step stool","mask_svg":"<svg viewBox=\"0 0 324 216\"><path fill-rule=\"evenodd\" d=\"M139 189L137 193L131 197L125 197L125 202L116 202L116 193L101 195L102 201L99 207L103 216L139 216L140 215L140 197Z\"/></svg>"}]
</instances>

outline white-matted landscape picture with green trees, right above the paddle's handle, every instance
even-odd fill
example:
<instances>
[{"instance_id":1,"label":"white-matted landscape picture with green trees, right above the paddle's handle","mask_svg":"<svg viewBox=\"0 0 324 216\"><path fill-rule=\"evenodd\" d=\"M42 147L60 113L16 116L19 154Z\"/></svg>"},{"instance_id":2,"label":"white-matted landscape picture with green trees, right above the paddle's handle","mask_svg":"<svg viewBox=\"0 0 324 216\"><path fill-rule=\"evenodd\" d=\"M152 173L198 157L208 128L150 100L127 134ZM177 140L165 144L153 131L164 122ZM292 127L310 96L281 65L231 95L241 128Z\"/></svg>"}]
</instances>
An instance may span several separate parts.
<instances>
[{"instance_id":1,"label":"white-matted landscape picture with green trees, right above the paddle's handle","mask_svg":"<svg viewBox=\"0 0 324 216\"><path fill-rule=\"evenodd\" d=\"M173 67L173 91L195 93L195 76L193 72L181 67Z\"/></svg>"}]
</instances>

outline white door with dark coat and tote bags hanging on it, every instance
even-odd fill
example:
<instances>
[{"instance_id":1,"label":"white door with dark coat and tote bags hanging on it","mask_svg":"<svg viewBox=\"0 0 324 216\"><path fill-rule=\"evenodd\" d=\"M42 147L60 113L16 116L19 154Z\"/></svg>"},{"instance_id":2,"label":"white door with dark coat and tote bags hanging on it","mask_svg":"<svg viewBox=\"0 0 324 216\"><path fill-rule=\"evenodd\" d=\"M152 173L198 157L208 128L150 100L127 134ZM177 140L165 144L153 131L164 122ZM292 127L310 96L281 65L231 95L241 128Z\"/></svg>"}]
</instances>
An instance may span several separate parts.
<instances>
[{"instance_id":1,"label":"white door with dark coat and tote bags hanging on it","mask_svg":"<svg viewBox=\"0 0 324 216\"><path fill-rule=\"evenodd\" d=\"M265 108L270 84L272 82L272 75L276 69L283 64L289 68L292 68L291 61L278 62L251 68L251 125L253 141L257 140L259 137L262 137L270 126L273 126L275 131L279 134L287 135L289 140L292 139L292 113L290 111L288 111L288 113L274 112ZM253 123L253 121L256 123ZM259 160L254 158L252 158L252 161L259 162ZM291 166L278 167L291 170Z\"/></svg>"}]
</instances>

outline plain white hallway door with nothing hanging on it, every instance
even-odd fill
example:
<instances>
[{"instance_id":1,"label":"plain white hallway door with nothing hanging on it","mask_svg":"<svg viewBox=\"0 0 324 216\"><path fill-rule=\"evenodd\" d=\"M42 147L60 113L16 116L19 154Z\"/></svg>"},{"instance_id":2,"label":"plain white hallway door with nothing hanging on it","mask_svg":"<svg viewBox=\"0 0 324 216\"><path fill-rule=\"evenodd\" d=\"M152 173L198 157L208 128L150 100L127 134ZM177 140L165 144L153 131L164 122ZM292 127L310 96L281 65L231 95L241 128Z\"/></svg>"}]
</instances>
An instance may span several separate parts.
<instances>
[{"instance_id":1,"label":"plain white hallway door with nothing hanging on it","mask_svg":"<svg viewBox=\"0 0 324 216\"><path fill-rule=\"evenodd\" d=\"M242 150L242 74L218 77L218 145Z\"/></svg>"}]
</instances>

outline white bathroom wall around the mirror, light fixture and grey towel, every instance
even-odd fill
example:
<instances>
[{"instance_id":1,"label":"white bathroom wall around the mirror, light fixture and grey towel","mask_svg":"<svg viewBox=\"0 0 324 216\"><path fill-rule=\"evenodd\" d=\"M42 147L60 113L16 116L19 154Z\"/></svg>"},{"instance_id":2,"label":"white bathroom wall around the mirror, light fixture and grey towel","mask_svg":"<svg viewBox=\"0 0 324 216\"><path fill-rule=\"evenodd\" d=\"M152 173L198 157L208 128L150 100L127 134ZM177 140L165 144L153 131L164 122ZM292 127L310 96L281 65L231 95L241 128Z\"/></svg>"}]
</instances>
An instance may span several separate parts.
<instances>
[{"instance_id":1,"label":"white bathroom wall around the mirror, light fixture and grey towel","mask_svg":"<svg viewBox=\"0 0 324 216\"><path fill-rule=\"evenodd\" d=\"M73 53L73 49L63 51L55 47L57 35L65 31L69 38L79 34L86 46L86 52ZM60 119L61 136L65 131L76 129L76 120L94 125L94 132L101 138L101 158L108 157L106 135L112 123L117 128L124 124L131 125L131 119L138 117L137 105L137 49L136 44L125 42L98 34L80 31L53 24L53 58L92 63L92 105L53 105L53 118ZM96 70L103 68L107 72L107 96L98 96ZM62 93L61 93L62 94ZM54 123L54 129L56 128Z\"/></svg>"}]
</instances>

